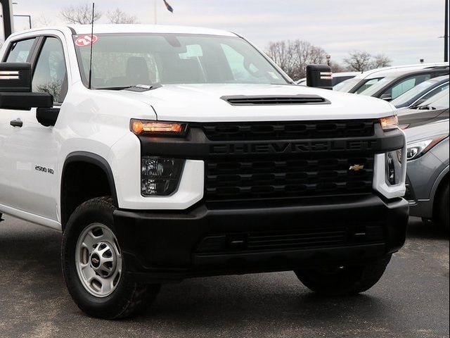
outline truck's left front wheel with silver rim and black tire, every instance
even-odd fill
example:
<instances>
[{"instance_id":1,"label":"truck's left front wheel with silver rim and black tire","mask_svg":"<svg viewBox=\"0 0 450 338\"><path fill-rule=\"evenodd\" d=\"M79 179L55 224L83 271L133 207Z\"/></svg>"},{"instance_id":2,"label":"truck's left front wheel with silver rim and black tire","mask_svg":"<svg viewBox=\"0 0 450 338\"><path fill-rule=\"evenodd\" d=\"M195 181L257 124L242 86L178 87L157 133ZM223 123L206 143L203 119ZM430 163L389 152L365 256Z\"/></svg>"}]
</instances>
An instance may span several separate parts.
<instances>
[{"instance_id":1,"label":"truck's left front wheel with silver rim and black tire","mask_svg":"<svg viewBox=\"0 0 450 338\"><path fill-rule=\"evenodd\" d=\"M72 299L87 315L119 319L146 310L160 285L139 284L127 275L115 236L110 197L86 201L70 216L63 234L62 264Z\"/></svg>"}]
</instances>

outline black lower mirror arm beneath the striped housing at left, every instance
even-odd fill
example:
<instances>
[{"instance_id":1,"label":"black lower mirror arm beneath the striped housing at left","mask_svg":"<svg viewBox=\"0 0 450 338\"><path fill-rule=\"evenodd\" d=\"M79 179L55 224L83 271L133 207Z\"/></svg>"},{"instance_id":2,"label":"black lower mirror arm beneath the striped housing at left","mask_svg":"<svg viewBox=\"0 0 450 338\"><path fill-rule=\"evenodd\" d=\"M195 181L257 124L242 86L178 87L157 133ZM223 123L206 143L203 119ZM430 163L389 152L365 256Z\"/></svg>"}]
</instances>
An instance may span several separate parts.
<instances>
[{"instance_id":1,"label":"black lower mirror arm beneath the striped housing at left","mask_svg":"<svg viewBox=\"0 0 450 338\"><path fill-rule=\"evenodd\" d=\"M30 111L31 108L53 107L53 96L49 93L0 92L0 108L15 111Z\"/></svg>"}]
</instances>

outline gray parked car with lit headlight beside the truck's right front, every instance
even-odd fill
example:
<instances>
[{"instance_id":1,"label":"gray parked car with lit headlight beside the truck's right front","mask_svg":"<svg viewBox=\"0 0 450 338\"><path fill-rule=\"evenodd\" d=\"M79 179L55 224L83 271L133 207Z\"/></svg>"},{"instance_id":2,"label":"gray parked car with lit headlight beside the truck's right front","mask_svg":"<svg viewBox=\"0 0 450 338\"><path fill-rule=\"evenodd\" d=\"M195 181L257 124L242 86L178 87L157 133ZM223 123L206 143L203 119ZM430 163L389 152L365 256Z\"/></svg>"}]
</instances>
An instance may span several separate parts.
<instances>
[{"instance_id":1,"label":"gray parked car with lit headlight beside the truck's right front","mask_svg":"<svg viewBox=\"0 0 450 338\"><path fill-rule=\"evenodd\" d=\"M405 133L405 198L410 204L410 215L432 220L449 230L449 120L410 127Z\"/></svg>"}]
</instances>

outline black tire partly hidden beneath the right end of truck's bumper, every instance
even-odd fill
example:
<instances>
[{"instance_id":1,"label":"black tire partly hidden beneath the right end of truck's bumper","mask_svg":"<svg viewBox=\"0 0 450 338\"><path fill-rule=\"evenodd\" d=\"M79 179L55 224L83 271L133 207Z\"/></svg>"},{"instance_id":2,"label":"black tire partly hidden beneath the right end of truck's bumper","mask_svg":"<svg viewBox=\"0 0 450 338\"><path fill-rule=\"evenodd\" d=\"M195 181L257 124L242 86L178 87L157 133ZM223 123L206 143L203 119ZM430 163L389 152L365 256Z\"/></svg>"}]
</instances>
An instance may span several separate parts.
<instances>
[{"instance_id":1,"label":"black tire partly hidden beneath the right end of truck's bumper","mask_svg":"<svg viewBox=\"0 0 450 338\"><path fill-rule=\"evenodd\" d=\"M385 273L390 256L360 266L339 266L296 270L300 282L311 291L324 296L352 296L365 292Z\"/></svg>"}]
</instances>

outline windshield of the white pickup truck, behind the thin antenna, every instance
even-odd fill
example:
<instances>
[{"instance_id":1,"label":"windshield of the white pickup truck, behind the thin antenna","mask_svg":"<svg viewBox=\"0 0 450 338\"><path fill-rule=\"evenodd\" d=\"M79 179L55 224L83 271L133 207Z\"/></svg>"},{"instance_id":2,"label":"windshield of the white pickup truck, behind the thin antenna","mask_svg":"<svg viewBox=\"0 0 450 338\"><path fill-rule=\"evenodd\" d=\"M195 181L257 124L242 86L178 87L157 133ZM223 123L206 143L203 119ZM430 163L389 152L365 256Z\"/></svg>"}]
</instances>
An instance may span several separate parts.
<instances>
[{"instance_id":1,"label":"windshield of the white pickup truck, behind the thin antenna","mask_svg":"<svg viewBox=\"0 0 450 338\"><path fill-rule=\"evenodd\" d=\"M137 84L288 84L253 46L239 37L175 34L101 34L94 37L92 87ZM78 40L77 40L78 39ZM84 85L90 44L75 47Z\"/></svg>"}]
</instances>

